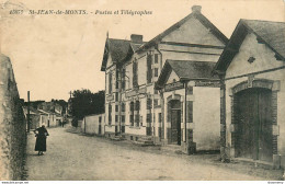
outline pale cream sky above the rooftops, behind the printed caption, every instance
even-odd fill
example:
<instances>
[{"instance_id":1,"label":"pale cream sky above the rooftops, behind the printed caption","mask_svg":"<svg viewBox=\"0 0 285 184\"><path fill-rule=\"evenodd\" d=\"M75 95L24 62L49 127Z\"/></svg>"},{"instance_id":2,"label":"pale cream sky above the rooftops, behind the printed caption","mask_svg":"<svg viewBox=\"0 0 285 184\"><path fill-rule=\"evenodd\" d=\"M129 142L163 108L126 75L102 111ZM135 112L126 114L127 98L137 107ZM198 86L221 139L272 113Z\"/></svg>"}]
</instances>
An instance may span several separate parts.
<instances>
[{"instance_id":1,"label":"pale cream sky above the rooftops, behind the printed caption","mask_svg":"<svg viewBox=\"0 0 285 184\"><path fill-rule=\"evenodd\" d=\"M285 22L284 0L0 0L0 50L10 57L21 99L68 100L69 92L104 90L101 69L106 33L150 41L202 5L227 37L240 19ZM23 14L10 14L23 10ZM30 10L84 10L88 14L29 14ZM148 15L116 10L151 11ZM112 14L95 14L112 11Z\"/></svg>"}]
</instances>

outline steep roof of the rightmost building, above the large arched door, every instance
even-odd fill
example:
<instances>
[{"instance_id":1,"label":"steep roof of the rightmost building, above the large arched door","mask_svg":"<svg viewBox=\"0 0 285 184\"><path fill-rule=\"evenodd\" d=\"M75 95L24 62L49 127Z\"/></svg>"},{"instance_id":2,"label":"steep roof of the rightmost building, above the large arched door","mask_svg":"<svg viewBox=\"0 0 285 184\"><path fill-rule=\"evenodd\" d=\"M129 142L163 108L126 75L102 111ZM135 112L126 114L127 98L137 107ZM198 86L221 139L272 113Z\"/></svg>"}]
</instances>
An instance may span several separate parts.
<instances>
[{"instance_id":1,"label":"steep roof of the rightmost building, above the large arched door","mask_svg":"<svg viewBox=\"0 0 285 184\"><path fill-rule=\"evenodd\" d=\"M227 70L248 33L255 34L260 43L265 44L276 54L276 58L285 61L285 22L241 19L223 51L215 71Z\"/></svg>"}]
</instances>

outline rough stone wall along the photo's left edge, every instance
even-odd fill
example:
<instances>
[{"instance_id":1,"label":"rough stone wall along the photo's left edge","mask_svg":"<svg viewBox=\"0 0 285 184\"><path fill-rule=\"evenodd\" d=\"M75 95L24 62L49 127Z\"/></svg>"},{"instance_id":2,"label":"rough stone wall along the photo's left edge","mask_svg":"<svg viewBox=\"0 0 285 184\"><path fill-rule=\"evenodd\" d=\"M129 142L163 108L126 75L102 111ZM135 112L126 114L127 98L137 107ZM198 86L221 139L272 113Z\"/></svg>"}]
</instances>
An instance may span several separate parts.
<instances>
[{"instance_id":1,"label":"rough stone wall along the photo's left edge","mask_svg":"<svg viewBox=\"0 0 285 184\"><path fill-rule=\"evenodd\" d=\"M0 55L0 180L21 180L26 123L11 61Z\"/></svg>"}]
</instances>

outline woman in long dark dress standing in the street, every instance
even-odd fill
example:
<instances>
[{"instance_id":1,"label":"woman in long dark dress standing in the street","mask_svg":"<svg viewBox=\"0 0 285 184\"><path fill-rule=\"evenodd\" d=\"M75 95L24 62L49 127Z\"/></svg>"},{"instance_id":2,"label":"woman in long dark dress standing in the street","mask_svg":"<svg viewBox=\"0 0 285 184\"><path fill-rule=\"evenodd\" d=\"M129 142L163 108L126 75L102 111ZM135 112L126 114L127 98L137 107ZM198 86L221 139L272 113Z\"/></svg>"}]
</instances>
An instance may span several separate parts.
<instances>
[{"instance_id":1,"label":"woman in long dark dress standing in the street","mask_svg":"<svg viewBox=\"0 0 285 184\"><path fill-rule=\"evenodd\" d=\"M46 136L49 136L45 125L34 130L36 137L35 151L38 151L38 156L42 156L46 151Z\"/></svg>"}]
</instances>

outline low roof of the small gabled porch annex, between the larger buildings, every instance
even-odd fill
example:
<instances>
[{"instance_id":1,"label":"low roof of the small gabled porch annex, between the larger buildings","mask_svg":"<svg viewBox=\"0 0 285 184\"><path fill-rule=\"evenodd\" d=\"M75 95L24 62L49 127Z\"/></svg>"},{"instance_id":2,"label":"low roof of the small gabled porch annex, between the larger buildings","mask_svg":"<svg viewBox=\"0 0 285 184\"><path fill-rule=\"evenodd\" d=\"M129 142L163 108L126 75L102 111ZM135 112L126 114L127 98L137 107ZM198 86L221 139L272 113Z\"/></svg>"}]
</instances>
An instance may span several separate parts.
<instances>
[{"instance_id":1,"label":"low roof of the small gabled porch annex, between the larger buildings","mask_svg":"<svg viewBox=\"0 0 285 184\"><path fill-rule=\"evenodd\" d=\"M167 60L159 76L157 87L162 88L171 71L182 80L218 80L212 76L216 62L193 60Z\"/></svg>"}]
</instances>

